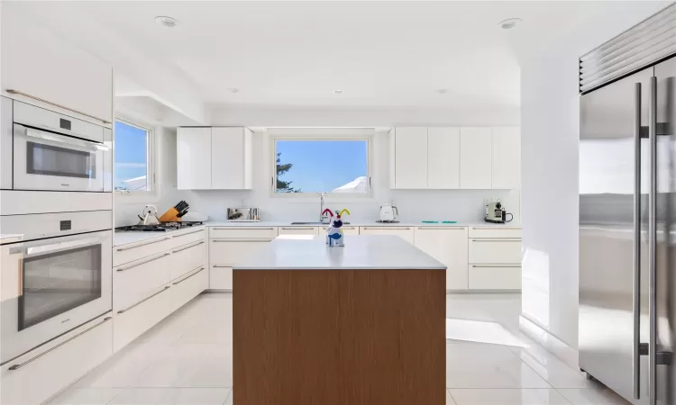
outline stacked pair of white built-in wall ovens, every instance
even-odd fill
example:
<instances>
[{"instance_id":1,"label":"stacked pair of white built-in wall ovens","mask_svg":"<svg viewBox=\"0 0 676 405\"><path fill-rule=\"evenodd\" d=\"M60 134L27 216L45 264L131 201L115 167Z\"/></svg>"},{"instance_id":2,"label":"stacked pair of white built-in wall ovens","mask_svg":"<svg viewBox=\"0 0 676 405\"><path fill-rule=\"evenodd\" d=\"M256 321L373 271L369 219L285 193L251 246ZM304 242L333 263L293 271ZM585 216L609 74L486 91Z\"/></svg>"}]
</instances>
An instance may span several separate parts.
<instances>
[{"instance_id":1,"label":"stacked pair of white built-in wall ovens","mask_svg":"<svg viewBox=\"0 0 676 405\"><path fill-rule=\"evenodd\" d=\"M112 311L113 181L110 128L6 98L2 108L5 364Z\"/></svg>"}]
</instances>

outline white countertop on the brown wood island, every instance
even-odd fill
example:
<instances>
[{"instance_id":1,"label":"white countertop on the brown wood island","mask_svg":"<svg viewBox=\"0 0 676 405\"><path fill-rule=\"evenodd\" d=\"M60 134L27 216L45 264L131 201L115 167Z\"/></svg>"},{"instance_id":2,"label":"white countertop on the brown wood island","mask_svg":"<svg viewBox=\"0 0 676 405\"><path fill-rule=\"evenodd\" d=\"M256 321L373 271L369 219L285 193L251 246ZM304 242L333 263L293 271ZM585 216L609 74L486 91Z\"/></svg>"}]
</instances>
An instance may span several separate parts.
<instances>
[{"instance_id":1,"label":"white countertop on the brown wood island","mask_svg":"<svg viewBox=\"0 0 676 405\"><path fill-rule=\"evenodd\" d=\"M396 236L345 235L344 247L328 247L324 236L286 235L260 248L233 270L422 270L441 262Z\"/></svg>"}]
</instances>

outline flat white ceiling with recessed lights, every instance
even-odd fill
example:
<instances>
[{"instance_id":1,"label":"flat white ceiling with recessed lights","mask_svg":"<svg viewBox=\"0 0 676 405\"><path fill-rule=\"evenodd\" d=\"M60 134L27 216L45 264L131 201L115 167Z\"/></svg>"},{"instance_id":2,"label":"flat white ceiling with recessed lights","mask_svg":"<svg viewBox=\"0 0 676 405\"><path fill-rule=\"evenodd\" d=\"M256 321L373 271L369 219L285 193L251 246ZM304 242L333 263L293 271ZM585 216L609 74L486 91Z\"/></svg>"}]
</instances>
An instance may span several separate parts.
<instances>
[{"instance_id":1,"label":"flat white ceiling with recessed lights","mask_svg":"<svg viewBox=\"0 0 676 405\"><path fill-rule=\"evenodd\" d=\"M517 106L518 56L612 3L53 2L31 13L72 37L100 27L179 69L207 103L442 109ZM523 25L498 28L511 17Z\"/></svg>"}]
</instances>

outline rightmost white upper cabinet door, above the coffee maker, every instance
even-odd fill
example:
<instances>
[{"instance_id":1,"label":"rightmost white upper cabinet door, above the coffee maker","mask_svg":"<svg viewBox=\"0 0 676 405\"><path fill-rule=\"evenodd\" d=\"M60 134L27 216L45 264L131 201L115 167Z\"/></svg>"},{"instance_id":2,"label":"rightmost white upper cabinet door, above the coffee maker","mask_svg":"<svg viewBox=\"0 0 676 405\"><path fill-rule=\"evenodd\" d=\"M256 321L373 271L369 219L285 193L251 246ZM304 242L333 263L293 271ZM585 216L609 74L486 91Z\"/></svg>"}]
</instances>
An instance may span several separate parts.
<instances>
[{"instance_id":1,"label":"rightmost white upper cabinet door, above the coffee maker","mask_svg":"<svg viewBox=\"0 0 676 405\"><path fill-rule=\"evenodd\" d=\"M493 128L493 188L521 188L521 135L518 127Z\"/></svg>"}]
</instances>

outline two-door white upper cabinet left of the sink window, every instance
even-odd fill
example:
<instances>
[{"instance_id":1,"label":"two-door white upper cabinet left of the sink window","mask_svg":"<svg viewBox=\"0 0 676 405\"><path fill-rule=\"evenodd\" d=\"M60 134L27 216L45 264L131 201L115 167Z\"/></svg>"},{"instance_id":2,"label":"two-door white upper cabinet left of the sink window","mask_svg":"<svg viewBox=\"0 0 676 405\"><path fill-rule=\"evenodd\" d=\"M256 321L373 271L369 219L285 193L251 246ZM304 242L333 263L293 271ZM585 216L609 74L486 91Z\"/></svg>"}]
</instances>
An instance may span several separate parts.
<instances>
[{"instance_id":1,"label":"two-door white upper cabinet left of the sink window","mask_svg":"<svg viewBox=\"0 0 676 405\"><path fill-rule=\"evenodd\" d=\"M178 128L177 136L179 190L251 189L251 130Z\"/></svg>"}]
</instances>

